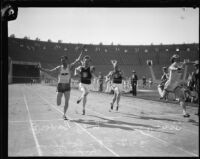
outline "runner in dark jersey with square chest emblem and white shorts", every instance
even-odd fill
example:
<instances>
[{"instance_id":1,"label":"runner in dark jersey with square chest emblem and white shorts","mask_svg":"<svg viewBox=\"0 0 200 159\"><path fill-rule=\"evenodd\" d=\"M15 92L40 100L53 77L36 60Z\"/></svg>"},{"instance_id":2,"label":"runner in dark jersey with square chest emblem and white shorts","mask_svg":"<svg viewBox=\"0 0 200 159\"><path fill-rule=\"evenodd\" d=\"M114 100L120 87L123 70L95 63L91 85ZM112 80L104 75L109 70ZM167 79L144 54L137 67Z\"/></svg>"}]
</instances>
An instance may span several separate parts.
<instances>
[{"instance_id":1,"label":"runner in dark jersey with square chest emblem and white shorts","mask_svg":"<svg viewBox=\"0 0 200 159\"><path fill-rule=\"evenodd\" d=\"M91 66L91 58L90 56L84 56L83 60L81 61L81 66L75 69L75 76L78 76L80 79L79 83L79 90L82 92L81 96L77 100L77 104L83 101L83 113L85 115L85 106L87 103L87 96L91 90L91 83L94 77L96 78L94 72L95 67Z\"/></svg>"}]
</instances>

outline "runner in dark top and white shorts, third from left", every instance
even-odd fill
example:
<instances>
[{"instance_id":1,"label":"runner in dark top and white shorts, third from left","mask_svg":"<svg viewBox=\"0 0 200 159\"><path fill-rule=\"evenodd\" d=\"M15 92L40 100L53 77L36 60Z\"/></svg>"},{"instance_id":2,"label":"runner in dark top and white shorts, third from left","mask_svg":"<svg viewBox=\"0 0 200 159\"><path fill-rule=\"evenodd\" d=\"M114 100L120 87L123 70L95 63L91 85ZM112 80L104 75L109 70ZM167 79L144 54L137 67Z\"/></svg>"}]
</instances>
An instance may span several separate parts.
<instances>
[{"instance_id":1,"label":"runner in dark top and white shorts, third from left","mask_svg":"<svg viewBox=\"0 0 200 159\"><path fill-rule=\"evenodd\" d=\"M123 89L122 80L124 78L123 78L123 73L119 68L117 60L111 60L111 63L113 65L113 70L110 71L108 75L106 76L106 79L111 81L111 89L114 91L114 96L113 96L112 102L110 103L109 111L113 110L115 101L117 103L116 110L118 111L121 92Z\"/></svg>"}]
</instances>

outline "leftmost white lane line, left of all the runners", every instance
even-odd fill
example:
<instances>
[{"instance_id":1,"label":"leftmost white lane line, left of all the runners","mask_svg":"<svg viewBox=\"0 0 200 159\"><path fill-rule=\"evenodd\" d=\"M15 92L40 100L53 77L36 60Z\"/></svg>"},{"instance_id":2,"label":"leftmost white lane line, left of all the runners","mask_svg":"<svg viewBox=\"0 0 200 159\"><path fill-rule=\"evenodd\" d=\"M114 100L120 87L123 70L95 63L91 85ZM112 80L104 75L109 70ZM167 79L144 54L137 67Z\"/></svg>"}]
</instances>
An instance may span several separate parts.
<instances>
[{"instance_id":1,"label":"leftmost white lane line, left of all the runners","mask_svg":"<svg viewBox=\"0 0 200 159\"><path fill-rule=\"evenodd\" d=\"M40 145L39 145L38 139L37 139L36 134L35 134L35 131L34 131L34 129L33 129L33 122L32 122L32 120L31 120L30 111L29 111L28 104L27 104L27 100L26 100L26 96L24 95L24 93L23 93L23 96L24 96L24 103L25 103L26 109L27 109L27 111L28 111L28 118L29 118L29 122L30 122L30 125L31 125L31 130L32 130L32 133L33 133L33 138L34 138L34 140L35 140L36 149L37 149L38 155L39 155L39 156L42 156L42 151L41 151L41 149L40 149Z\"/></svg>"}]
</instances>

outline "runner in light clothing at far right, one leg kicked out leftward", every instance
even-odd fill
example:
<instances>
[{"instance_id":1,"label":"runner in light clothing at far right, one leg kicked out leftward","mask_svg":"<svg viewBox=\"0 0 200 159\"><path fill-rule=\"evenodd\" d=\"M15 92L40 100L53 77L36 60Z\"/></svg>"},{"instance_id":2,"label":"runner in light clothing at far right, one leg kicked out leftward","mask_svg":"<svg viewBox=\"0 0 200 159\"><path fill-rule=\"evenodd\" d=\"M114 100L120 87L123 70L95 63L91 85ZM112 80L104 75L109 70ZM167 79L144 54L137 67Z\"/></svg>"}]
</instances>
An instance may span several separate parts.
<instances>
[{"instance_id":1,"label":"runner in light clothing at far right, one leg kicked out leftward","mask_svg":"<svg viewBox=\"0 0 200 159\"><path fill-rule=\"evenodd\" d=\"M186 82L181 79L181 76L184 72L184 66L187 64L187 62L180 62L180 57L177 54L174 54L170 60L171 65L168 67L169 77L164 85L164 89L162 90L160 87L158 87L158 92L161 96L161 99L165 99L169 92L174 93L179 99L180 106L183 109L183 116L190 117L190 115L186 112L185 99L186 94L192 95L192 93L188 89Z\"/></svg>"}]
</instances>

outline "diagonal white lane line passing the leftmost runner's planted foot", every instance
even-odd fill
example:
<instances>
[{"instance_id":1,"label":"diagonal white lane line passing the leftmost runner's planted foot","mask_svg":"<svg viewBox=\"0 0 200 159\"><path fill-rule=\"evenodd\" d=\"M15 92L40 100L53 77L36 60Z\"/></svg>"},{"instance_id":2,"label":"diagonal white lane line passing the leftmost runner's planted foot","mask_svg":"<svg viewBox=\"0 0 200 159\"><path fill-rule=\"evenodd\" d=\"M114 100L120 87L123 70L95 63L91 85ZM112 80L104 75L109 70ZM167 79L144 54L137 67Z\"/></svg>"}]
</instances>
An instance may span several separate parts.
<instances>
[{"instance_id":1,"label":"diagonal white lane line passing the leftmost runner's planted foot","mask_svg":"<svg viewBox=\"0 0 200 159\"><path fill-rule=\"evenodd\" d=\"M36 94L38 95L38 94ZM39 95L38 95L39 96ZM42 100L44 100L46 103L48 103L50 106L52 106L52 108L54 108L55 110L57 110L59 113L63 114L62 111L60 111L58 108L56 108L55 105L49 103L48 100L46 100L44 97L39 96ZM69 116L68 116L69 117ZM69 117L70 120L73 120L72 118ZM115 156L119 156L116 152L114 152L113 150L111 150L109 147L107 147L100 139L96 138L94 135L92 135L89 131L87 131L85 128L83 128L80 124L75 123L79 128L81 128L84 132L86 132L90 137L92 137L95 141L97 141L100 145L102 145L104 148L106 148L108 151L110 151L113 155Z\"/></svg>"}]
</instances>

